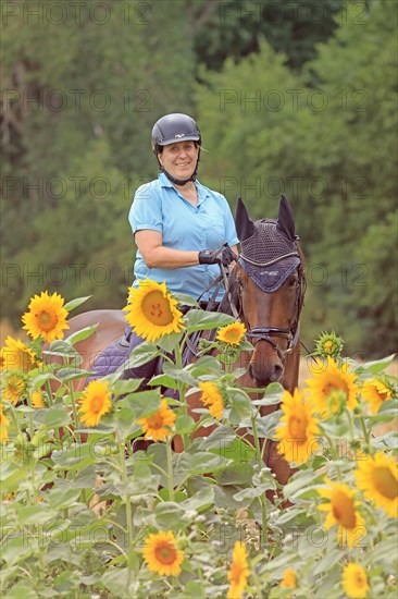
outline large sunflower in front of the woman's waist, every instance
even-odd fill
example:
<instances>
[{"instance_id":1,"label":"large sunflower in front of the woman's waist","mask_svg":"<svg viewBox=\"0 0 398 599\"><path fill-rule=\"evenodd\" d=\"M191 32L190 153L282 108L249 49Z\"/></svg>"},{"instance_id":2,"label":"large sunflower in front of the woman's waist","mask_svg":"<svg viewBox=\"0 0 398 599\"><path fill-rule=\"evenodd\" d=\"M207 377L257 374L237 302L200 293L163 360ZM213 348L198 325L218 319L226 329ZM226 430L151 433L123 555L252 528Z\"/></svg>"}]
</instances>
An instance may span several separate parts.
<instances>
[{"instance_id":1,"label":"large sunflower in front of the woman's waist","mask_svg":"<svg viewBox=\"0 0 398 599\"><path fill-rule=\"evenodd\" d=\"M126 320L134 332L147 341L157 341L169 333L179 333L184 329L183 314L177 301L172 297L165 283L146 279L138 289L128 288Z\"/></svg>"}]
</instances>

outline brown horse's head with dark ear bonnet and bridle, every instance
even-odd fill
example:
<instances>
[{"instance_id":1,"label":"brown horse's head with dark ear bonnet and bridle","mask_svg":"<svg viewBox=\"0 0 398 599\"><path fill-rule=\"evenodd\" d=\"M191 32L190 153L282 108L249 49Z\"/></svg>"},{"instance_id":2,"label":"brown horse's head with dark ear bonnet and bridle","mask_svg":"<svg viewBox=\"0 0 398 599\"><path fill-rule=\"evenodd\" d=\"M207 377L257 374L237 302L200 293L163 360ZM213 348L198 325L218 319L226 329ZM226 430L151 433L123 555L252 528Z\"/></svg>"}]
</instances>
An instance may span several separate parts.
<instances>
[{"instance_id":1,"label":"brown horse's head with dark ear bonnet and bridle","mask_svg":"<svg viewBox=\"0 0 398 599\"><path fill-rule=\"evenodd\" d=\"M304 292L302 254L284 196L277 220L256 222L238 198L236 229L241 250L226 295L238 306L254 345L249 375L257 387L265 387L283 382L286 359L298 344Z\"/></svg>"}]
</instances>

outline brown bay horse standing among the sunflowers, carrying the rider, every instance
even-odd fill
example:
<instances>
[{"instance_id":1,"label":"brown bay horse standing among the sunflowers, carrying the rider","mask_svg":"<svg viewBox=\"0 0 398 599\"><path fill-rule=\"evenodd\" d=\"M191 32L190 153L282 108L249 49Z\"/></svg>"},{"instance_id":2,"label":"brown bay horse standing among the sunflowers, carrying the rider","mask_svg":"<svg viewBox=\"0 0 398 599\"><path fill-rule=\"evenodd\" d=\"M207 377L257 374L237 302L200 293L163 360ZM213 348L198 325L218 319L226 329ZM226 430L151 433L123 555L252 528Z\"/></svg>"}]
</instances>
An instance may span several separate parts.
<instances>
[{"instance_id":1,"label":"brown bay horse standing among the sunflowers, carrying the rider","mask_svg":"<svg viewBox=\"0 0 398 599\"><path fill-rule=\"evenodd\" d=\"M220 311L240 319L253 345L253 351L242 352L234 365L246 368L239 383L259 389L271 382L281 382L293 393L298 384L299 319L306 280L294 215L289 203L282 196L276 220L253 222L244 201L238 198L235 220L241 250L228 277ZM124 335L126 328L122 310L91 310L70 320L67 335L95 323L98 323L96 332L75 345L83 357L82 368L88 370L107 347ZM78 379L75 383L79 391L85 380ZM199 394L189 395L188 409L196 420L199 416L195 409L198 407L203 407ZM262 406L261 415L276 408L277 405ZM207 436L211 430L211 427L202 428L197 435ZM268 441L265 462L284 485L291 469L275 448L274 441Z\"/></svg>"}]
</instances>

